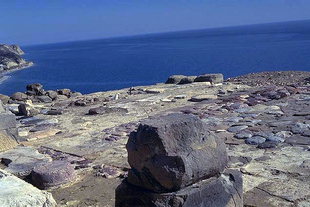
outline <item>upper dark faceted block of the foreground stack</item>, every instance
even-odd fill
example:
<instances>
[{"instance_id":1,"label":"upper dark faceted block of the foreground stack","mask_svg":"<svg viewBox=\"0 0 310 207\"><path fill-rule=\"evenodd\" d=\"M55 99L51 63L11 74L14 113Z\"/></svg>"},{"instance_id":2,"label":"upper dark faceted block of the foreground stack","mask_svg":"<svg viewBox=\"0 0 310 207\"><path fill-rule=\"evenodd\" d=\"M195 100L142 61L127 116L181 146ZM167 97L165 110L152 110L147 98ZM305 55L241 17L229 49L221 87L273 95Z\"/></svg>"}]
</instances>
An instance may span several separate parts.
<instances>
[{"instance_id":1,"label":"upper dark faceted block of the foreground stack","mask_svg":"<svg viewBox=\"0 0 310 207\"><path fill-rule=\"evenodd\" d=\"M227 165L224 142L199 118L170 114L140 124L126 145L128 182L171 192L220 174Z\"/></svg>"}]
</instances>

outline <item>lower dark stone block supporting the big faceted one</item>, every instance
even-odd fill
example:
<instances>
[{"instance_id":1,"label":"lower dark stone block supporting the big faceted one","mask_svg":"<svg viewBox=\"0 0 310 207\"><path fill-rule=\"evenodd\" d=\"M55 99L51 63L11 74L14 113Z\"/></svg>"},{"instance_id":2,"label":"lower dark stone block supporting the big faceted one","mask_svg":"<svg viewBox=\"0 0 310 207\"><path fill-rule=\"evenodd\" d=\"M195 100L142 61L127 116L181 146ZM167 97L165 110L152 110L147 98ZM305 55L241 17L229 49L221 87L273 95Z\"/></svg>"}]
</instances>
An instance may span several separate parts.
<instances>
[{"instance_id":1,"label":"lower dark stone block supporting the big faceted one","mask_svg":"<svg viewBox=\"0 0 310 207\"><path fill-rule=\"evenodd\" d=\"M115 192L116 207L243 207L242 174L227 170L177 192L153 193L126 180Z\"/></svg>"}]
</instances>

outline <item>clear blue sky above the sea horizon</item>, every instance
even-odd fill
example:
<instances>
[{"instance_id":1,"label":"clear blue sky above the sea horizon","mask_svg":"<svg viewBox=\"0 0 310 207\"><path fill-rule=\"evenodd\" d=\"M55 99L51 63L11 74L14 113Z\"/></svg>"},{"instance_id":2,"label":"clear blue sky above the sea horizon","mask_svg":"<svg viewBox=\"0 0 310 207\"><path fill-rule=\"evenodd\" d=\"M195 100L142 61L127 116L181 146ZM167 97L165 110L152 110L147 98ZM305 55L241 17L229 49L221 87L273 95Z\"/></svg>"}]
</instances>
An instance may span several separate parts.
<instances>
[{"instance_id":1,"label":"clear blue sky above the sea horizon","mask_svg":"<svg viewBox=\"0 0 310 207\"><path fill-rule=\"evenodd\" d=\"M44 44L310 19L310 0L1 0L0 43Z\"/></svg>"}]
</instances>

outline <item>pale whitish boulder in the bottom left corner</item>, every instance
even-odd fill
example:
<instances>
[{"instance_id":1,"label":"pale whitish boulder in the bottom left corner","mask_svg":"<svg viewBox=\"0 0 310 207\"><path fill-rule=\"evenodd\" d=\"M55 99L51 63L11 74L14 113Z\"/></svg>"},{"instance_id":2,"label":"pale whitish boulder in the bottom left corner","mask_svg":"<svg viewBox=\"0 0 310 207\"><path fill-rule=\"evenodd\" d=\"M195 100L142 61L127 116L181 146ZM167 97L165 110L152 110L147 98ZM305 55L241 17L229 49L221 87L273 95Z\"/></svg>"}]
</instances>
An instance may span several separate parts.
<instances>
[{"instance_id":1,"label":"pale whitish boulder in the bottom left corner","mask_svg":"<svg viewBox=\"0 0 310 207\"><path fill-rule=\"evenodd\" d=\"M55 207L56 201L51 193L0 169L0 204L1 207Z\"/></svg>"}]
</instances>

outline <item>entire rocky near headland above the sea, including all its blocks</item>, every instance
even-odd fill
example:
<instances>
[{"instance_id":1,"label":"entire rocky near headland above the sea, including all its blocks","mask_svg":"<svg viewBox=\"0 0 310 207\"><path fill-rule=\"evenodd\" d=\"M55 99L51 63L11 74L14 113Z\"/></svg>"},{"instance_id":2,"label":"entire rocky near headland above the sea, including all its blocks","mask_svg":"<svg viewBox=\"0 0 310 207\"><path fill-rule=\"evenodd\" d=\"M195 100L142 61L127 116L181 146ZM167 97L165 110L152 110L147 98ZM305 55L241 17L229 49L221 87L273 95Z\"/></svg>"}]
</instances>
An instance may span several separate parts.
<instances>
[{"instance_id":1,"label":"entire rocky near headland above the sea, including all its blocks","mask_svg":"<svg viewBox=\"0 0 310 207\"><path fill-rule=\"evenodd\" d=\"M0 202L310 206L309 77L175 75L85 95L35 83L0 95Z\"/></svg>"}]
</instances>

